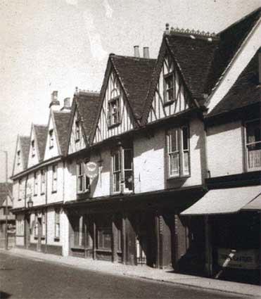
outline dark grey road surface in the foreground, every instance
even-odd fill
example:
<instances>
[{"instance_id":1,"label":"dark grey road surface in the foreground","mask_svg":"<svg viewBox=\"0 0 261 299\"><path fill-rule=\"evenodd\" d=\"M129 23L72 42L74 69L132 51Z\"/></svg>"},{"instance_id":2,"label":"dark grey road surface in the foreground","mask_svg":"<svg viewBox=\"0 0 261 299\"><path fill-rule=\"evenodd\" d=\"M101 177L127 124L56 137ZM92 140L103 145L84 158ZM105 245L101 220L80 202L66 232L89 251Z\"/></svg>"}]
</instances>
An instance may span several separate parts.
<instances>
[{"instance_id":1,"label":"dark grey road surface in the foreground","mask_svg":"<svg viewBox=\"0 0 261 299\"><path fill-rule=\"evenodd\" d=\"M0 253L0 298L244 298Z\"/></svg>"}]
</instances>

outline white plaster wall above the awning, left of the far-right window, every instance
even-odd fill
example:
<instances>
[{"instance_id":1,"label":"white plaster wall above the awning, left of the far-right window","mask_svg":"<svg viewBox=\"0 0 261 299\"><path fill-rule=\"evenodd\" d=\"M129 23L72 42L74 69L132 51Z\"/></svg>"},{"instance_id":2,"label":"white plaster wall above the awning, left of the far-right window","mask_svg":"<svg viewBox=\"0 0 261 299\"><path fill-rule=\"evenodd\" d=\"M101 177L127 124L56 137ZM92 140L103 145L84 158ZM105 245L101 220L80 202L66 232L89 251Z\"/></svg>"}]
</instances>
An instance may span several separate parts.
<instances>
[{"instance_id":1,"label":"white plaster wall above the awning, left of the far-right window","mask_svg":"<svg viewBox=\"0 0 261 299\"><path fill-rule=\"evenodd\" d=\"M208 127L207 144L211 177L243 172L241 122Z\"/></svg>"}]
</instances>

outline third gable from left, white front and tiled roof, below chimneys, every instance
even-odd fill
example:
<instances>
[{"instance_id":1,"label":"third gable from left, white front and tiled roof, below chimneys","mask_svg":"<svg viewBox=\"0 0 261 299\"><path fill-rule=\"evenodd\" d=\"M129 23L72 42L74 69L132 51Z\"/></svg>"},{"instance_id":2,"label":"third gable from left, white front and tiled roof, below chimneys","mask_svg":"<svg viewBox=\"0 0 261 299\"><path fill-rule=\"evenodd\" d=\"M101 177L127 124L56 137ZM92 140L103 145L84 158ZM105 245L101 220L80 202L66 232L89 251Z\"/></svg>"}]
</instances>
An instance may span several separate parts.
<instances>
[{"instance_id":1,"label":"third gable from left, white front and tiled roof, below chimneys","mask_svg":"<svg viewBox=\"0 0 261 299\"><path fill-rule=\"evenodd\" d=\"M51 111L44 160L65 154L70 112Z\"/></svg>"}]
</instances>

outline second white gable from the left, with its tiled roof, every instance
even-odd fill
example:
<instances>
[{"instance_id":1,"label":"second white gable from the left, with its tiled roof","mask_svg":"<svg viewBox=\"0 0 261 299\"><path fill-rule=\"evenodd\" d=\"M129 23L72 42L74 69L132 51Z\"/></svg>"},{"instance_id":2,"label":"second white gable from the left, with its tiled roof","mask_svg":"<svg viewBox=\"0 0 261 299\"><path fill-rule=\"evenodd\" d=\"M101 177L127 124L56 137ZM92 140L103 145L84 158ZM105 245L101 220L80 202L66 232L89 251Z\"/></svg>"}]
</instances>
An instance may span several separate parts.
<instances>
[{"instance_id":1,"label":"second white gable from the left, with its tiled roof","mask_svg":"<svg viewBox=\"0 0 261 299\"><path fill-rule=\"evenodd\" d=\"M47 126L32 124L28 168L37 165L44 160L47 131Z\"/></svg>"}]
</instances>

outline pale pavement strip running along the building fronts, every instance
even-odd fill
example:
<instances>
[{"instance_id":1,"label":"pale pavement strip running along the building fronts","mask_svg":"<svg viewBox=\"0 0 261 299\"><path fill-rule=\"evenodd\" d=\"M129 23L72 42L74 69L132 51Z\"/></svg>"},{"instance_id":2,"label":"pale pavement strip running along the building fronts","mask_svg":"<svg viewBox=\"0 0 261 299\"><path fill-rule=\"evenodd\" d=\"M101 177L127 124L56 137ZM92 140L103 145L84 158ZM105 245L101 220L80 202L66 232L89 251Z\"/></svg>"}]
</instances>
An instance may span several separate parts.
<instances>
[{"instance_id":1,"label":"pale pavement strip running along the building fronts","mask_svg":"<svg viewBox=\"0 0 261 299\"><path fill-rule=\"evenodd\" d=\"M2 250L2 249L0 249ZM205 288L209 290L222 291L246 295L254 298L261 298L260 286L252 284L241 284L232 281L222 281L217 279L208 279L200 276L191 276L173 273L170 269L153 269L146 265L129 266L120 263L106 262L101 260L83 259L82 257L63 257L51 255L48 253L39 253L37 251L26 250L22 248L11 248L9 254L27 257L36 260L45 260L46 262L55 262L70 267L88 269L94 272L103 272L117 276L129 276L141 279L150 279L153 281L164 281L167 283L193 286L194 288Z\"/></svg>"}]
</instances>

